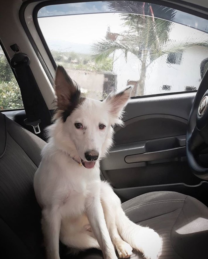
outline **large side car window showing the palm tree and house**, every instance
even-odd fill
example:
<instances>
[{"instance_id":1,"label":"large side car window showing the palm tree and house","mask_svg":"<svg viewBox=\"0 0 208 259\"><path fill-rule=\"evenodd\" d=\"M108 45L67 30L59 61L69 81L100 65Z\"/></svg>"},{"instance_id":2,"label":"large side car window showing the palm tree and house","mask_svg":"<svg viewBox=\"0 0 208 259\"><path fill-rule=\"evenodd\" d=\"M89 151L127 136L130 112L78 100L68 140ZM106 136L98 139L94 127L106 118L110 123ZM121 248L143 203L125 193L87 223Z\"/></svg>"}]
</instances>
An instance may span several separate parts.
<instances>
[{"instance_id":1,"label":"large side car window showing the palm tree and house","mask_svg":"<svg viewBox=\"0 0 208 259\"><path fill-rule=\"evenodd\" d=\"M56 64L87 97L104 99L129 85L132 96L200 85L208 57L205 19L134 1L50 5L37 17Z\"/></svg>"}]
</instances>

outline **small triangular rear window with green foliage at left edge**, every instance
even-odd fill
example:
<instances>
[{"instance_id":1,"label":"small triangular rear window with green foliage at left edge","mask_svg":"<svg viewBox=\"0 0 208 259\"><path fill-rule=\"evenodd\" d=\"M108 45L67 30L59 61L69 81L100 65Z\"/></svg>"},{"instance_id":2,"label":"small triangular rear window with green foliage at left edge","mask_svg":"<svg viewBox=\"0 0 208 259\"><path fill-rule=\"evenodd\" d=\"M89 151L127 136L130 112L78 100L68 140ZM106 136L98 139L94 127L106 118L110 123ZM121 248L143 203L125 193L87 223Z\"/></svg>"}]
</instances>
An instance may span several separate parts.
<instances>
[{"instance_id":1,"label":"small triangular rear window with green foliage at left edge","mask_svg":"<svg viewBox=\"0 0 208 259\"><path fill-rule=\"evenodd\" d=\"M0 47L0 110L24 108L20 88Z\"/></svg>"}]
</instances>

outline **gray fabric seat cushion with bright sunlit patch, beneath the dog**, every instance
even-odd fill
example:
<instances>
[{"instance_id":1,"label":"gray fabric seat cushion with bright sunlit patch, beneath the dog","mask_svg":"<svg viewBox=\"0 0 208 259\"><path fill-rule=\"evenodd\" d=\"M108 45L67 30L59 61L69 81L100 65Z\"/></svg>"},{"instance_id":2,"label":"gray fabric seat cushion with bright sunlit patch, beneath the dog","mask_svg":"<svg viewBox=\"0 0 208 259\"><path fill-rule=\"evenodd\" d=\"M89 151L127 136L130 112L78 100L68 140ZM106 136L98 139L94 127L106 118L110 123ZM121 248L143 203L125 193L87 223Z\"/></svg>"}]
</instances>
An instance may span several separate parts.
<instances>
[{"instance_id":1,"label":"gray fabric seat cushion with bright sunlit patch, beneath the dog","mask_svg":"<svg viewBox=\"0 0 208 259\"><path fill-rule=\"evenodd\" d=\"M159 259L208 258L208 208L177 192L150 192L122 204L132 221L155 229L162 238ZM151 249L151 243L150 243ZM79 259L101 259L100 251L81 253ZM133 252L132 259L143 259Z\"/></svg>"}]
</instances>

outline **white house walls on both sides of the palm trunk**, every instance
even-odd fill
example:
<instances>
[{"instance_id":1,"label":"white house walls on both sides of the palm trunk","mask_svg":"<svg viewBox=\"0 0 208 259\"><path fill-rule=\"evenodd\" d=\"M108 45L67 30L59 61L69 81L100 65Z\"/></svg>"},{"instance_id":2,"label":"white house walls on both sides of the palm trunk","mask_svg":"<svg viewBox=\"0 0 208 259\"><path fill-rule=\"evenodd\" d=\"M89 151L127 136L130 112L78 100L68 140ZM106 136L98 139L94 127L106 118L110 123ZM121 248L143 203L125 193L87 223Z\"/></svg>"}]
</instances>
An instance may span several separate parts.
<instances>
[{"instance_id":1,"label":"white house walls on both sides of the palm trunk","mask_svg":"<svg viewBox=\"0 0 208 259\"><path fill-rule=\"evenodd\" d=\"M171 86L168 92L185 91L186 86L198 89L201 81L200 63L208 57L208 49L200 46L187 48L182 54L180 64L169 64L166 62L168 54L156 59L147 68L145 80L145 93L158 94L167 93L162 90L163 85ZM116 50L114 55L113 71L117 74L117 89L120 90L127 85L128 80L138 81L141 62L131 53L125 55L121 50Z\"/></svg>"}]
</instances>

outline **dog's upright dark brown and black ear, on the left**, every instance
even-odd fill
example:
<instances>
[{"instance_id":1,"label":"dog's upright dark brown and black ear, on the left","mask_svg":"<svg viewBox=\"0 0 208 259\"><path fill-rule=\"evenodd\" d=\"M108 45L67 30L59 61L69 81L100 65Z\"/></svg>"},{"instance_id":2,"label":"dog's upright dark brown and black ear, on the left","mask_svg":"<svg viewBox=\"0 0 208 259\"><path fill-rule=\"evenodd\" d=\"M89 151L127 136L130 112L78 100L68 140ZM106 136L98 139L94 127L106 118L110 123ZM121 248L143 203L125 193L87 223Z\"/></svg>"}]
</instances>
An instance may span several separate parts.
<instances>
[{"instance_id":1,"label":"dog's upright dark brown and black ear, on the left","mask_svg":"<svg viewBox=\"0 0 208 259\"><path fill-rule=\"evenodd\" d=\"M57 108L64 121L71 112L79 105L80 89L78 85L72 81L62 66L58 66L55 78L55 92L57 96Z\"/></svg>"}]
</instances>

